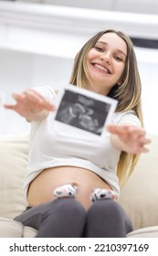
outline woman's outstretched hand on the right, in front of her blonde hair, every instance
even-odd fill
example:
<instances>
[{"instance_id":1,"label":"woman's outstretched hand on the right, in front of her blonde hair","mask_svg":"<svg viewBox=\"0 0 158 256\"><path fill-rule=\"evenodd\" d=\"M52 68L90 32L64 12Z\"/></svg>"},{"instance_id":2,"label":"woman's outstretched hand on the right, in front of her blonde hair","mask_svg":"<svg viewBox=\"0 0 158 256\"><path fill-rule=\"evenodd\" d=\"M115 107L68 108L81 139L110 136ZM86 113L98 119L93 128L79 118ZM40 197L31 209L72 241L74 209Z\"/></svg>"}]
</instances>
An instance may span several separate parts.
<instances>
[{"instance_id":1,"label":"woman's outstretched hand on the right, in front of her blonde hair","mask_svg":"<svg viewBox=\"0 0 158 256\"><path fill-rule=\"evenodd\" d=\"M141 127L132 124L109 124L107 130L111 133L111 144L121 151L129 154L149 151L146 144L151 140L146 137L146 132Z\"/></svg>"}]
</instances>

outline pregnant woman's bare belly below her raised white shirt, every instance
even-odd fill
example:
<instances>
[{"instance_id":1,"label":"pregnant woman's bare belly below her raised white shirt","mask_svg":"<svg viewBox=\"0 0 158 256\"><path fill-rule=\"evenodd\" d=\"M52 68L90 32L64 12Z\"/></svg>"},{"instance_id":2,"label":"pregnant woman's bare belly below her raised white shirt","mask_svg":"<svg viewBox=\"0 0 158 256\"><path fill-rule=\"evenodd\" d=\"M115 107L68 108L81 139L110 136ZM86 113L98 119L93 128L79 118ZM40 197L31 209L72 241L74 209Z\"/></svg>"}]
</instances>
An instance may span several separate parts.
<instances>
[{"instance_id":1,"label":"pregnant woman's bare belly below her raised white shirt","mask_svg":"<svg viewBox=\"0 0 158 256\"><path fill-rule=\"evenodd\" d=\"M78 187L77 200L84 208L90 207L90 194L94 188L111 187L93 172L72 166L53 167L44 170L30 184L28 189L28 206L34 207L54 200L55 188L72 184Z\"/></svg>"}]
</instances>

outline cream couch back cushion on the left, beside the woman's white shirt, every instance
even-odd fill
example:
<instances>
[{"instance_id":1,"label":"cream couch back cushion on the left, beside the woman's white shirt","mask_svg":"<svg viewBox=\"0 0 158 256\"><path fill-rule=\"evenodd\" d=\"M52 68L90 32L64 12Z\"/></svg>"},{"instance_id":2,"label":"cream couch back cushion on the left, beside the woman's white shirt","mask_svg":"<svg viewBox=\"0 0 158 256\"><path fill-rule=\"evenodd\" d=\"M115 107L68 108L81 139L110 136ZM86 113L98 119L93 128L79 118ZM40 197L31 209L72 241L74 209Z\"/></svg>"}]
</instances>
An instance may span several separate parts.
<instances>
[{"instance_id":1,"label":"cream couch back cushion on the left, beside the woman's white shirt","mask_svg":"<svg viewBox=\"0 0 158 256\"><path fill-rule=\"evenodd\" d=\"M0 217L14 219L26 208L28 134L0 136Z\"/></svg>"}]
</instances>

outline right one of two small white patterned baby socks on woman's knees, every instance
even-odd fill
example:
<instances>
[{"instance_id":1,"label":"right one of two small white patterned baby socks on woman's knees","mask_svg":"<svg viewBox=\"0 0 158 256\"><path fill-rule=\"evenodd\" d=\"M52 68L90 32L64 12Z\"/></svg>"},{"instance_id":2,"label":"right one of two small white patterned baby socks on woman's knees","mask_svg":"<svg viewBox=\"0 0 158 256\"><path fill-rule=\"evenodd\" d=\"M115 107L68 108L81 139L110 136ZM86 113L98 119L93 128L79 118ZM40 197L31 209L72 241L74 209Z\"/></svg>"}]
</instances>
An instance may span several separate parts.
<instances>
[{"instance_id":1,"label":"right one of two small white patterned baby socks on woman's knees","mask_svg":"<svg viewBox=\"0 0 158 256\"><path fill-rule=\"evenodd\" d=\"M90 200L94 203L99 200L105 200L105 199L116 199L117 195L116 193L111 189L104 189L104 188L96 188L93 190L90 196Z\"/></svg>"}]
</instances>

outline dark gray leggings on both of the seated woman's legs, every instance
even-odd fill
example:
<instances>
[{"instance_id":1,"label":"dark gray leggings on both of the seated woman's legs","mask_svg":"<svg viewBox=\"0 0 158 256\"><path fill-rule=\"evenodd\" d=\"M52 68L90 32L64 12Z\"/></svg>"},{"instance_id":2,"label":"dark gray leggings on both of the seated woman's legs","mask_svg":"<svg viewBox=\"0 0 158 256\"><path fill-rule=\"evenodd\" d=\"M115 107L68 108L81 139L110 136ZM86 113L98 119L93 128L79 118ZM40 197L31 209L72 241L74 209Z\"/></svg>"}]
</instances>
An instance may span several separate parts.
<instances>
[{"instance_id":1,"label":"dark gray leggings on both of the seated woman's legs","mask_svg":"<svg viewBox=\"0 0 158 256\"><path fill-rule=\"evenodd\" d=\"M37 238L124 238L132 231L131 220L111 199L86 211L74 198L58 198L26 209L15 220L37 229Z\"/></svg>"}]
</instances>

